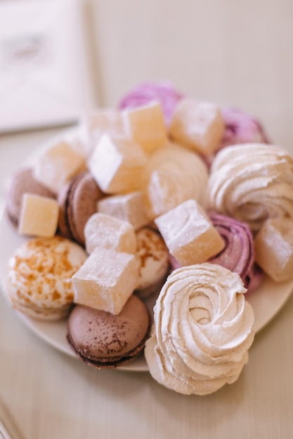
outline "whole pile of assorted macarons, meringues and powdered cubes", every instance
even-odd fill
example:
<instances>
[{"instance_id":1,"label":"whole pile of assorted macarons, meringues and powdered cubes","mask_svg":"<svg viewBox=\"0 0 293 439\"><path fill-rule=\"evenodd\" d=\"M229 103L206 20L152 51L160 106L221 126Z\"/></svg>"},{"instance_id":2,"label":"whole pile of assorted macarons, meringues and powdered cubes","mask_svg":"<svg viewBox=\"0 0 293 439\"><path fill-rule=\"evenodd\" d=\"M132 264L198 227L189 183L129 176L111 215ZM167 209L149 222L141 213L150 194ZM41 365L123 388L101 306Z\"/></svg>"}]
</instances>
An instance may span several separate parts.
<instances>
[{"instance_id":1,"label":"whole pile of assorted macarons, meringues and powdered cubes","mask_svg":"<svg viewBox=\"0 0 293 439\"><path fill-rule=\"evenodd\" d=\"M11 176L6 212L25 237L8 262L15 309L67 318L94 367L144 350L152 377L184 394L239 377L254 339L245 295L263 276L293 279L293 158L252 116L169 83L52 140Z\"/></svg>"}]
</instances>

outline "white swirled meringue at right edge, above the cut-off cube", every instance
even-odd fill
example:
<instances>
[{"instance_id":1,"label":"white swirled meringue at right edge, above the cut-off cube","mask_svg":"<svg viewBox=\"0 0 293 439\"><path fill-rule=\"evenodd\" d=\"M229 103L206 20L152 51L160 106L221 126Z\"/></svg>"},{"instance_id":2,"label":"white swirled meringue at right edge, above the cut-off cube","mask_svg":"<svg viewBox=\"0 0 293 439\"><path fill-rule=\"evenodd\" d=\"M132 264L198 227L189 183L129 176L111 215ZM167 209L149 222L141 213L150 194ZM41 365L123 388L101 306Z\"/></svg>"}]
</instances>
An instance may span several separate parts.
<instances>
[{"instance_id":1,"label":"white swirled meringue at right edge, above the cut-off cube","mask_svg":"<svg viewBox=\"0 0 293 439\"><path fill-rule=\"evenodd\" d=\"M207 184L207 208L246 222L253 233L274 217L293 217L293 158L251 143L219 151Z\"/></svg>"}]
</instances>

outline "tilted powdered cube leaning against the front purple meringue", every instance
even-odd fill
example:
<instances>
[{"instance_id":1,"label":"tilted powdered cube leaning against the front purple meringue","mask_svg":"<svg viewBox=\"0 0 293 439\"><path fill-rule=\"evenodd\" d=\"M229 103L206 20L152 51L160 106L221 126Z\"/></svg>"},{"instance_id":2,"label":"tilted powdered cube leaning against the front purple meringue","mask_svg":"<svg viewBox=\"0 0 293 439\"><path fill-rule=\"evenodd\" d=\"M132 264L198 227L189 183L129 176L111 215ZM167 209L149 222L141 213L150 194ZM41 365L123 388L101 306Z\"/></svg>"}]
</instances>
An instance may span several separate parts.
<instances>
[{"instance_id":1,"label":"tilted powdered cube leaning against the front purple meringue","mask_svg":"<svg viewBox=\"0 0 293 439\"><path fill-rule=\"evenodd\" d=\"M155 219L172 256L181 265L200 264L217 255L225 243L195 200L184 201Z\"/></svg>"}]
</instances>

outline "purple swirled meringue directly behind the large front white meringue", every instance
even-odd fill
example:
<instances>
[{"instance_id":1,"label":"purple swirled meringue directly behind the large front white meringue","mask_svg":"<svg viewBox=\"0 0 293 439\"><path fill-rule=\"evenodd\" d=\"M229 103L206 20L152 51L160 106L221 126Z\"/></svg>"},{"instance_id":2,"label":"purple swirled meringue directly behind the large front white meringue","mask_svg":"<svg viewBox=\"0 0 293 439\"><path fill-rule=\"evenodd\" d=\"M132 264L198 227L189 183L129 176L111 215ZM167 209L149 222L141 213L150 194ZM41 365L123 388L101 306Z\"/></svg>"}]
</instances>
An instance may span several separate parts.
<instances>
[{"instance_id":1,"label":"purple swirled meringue directly behind the large front white meringue","mask_svg":"<svg viewBox=\"0 0 293 439\"><path fill-rule=\"evenodd\" d=\"M261 269L254 267L254 241L249 227L216 212L209 212L209 218L225 242L225 248L209 262L238 273L245 288L254 290L261 282Z\"/></svg>"}]
</instances>

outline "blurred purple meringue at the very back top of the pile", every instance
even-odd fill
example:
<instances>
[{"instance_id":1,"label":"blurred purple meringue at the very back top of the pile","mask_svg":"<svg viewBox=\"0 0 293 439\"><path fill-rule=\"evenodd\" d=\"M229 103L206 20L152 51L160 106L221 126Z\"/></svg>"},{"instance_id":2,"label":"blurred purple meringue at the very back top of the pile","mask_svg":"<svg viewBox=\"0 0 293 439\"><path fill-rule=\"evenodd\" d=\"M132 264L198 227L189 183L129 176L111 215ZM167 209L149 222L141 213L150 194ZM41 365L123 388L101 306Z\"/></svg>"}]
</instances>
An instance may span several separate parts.
<instances>
[{"instance_id":1,"label":"blurred purple meringue at the very back top of the pile","mask_svg":"<svg viewBox=\"0 0 293 439\"><path fill-rule=\"evenodd\" d=\"M119 109L134 109L157 100L162 104L164 119L169 125L176 104L183 95L169 82L144 82L136 86L119 102Z\"/></svg>"}]
</instances>

